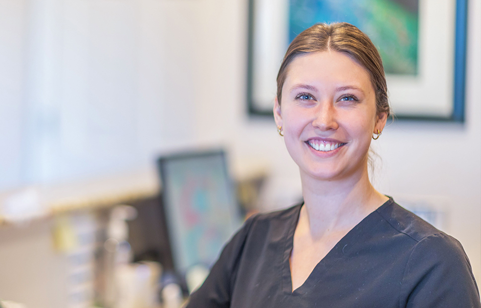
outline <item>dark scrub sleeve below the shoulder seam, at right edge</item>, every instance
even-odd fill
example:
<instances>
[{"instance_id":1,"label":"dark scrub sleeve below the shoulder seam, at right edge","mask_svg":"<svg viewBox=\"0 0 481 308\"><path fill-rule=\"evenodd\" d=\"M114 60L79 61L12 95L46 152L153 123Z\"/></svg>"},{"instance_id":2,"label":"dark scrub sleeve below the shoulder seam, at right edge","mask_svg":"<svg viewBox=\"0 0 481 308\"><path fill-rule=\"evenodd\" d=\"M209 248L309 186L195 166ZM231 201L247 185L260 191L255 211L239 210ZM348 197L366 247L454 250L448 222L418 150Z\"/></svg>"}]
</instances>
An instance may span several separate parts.
<instances>
[{"instance_id":1,"label":"dark scrub sleeve below the shoulder seam, at right edge","mask_svg":"<svg viewBox=\"0 0 481 308\"><path fill-rule=\"evenodd\" d=\"M413 248L401 282L399 307L481 308L469 260L454 238L437 233Z\"/></svg>"}]
</instances>

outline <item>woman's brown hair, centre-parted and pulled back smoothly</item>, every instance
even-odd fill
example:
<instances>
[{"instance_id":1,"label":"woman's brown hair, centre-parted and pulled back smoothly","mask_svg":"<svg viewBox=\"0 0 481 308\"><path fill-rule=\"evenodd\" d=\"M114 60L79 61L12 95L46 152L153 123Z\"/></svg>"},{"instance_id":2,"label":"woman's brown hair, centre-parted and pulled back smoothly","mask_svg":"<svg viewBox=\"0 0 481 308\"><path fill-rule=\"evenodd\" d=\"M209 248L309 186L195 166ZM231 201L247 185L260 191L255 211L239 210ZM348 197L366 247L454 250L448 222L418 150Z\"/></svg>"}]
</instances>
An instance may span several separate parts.
<instances>
[{"instance_id":1,"label":"woman's brown hair, centre-parted and pulled back smoothly","mask_svg":"<svg viewBox=\"0 0 481 308\"><path fill-rule=\"evenodd\" d=\"M289 45L277 75L277 99L281 103L287 68L297 56L311 52L337 51L350 56L371 75L378 114L390 114L386 76L382 60L372 41L357 27L347 22L317 23L301 32Z\"/></svg>"}]
</instances>

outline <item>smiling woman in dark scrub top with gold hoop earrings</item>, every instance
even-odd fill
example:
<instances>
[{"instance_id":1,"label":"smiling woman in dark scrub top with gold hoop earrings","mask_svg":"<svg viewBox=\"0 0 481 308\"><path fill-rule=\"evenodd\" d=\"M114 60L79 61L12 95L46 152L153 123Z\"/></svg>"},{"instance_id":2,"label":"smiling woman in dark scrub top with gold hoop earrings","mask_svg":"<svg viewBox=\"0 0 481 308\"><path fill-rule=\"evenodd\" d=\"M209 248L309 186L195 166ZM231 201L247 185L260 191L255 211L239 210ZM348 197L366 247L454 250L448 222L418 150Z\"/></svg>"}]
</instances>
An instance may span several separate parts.
<instances>
[{"instance_id":1,"label":"smiling woman in dark scrub top with gold hoop earrings","mask_svg":"<svg viewBox=\"0 0 481 308\"><path fill-rule=\"evenodd\" d=\"M368 177L390 113L379 54L348 23L290 44L274 117L304 202L246 221L189 308L481 307L463 248Z\"/></svg>"}]
</instances>

